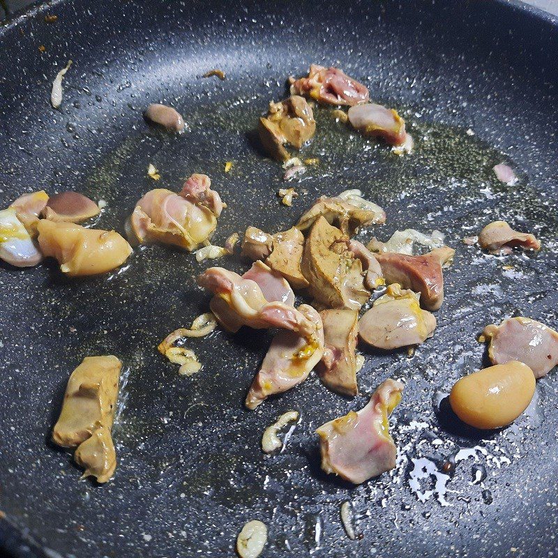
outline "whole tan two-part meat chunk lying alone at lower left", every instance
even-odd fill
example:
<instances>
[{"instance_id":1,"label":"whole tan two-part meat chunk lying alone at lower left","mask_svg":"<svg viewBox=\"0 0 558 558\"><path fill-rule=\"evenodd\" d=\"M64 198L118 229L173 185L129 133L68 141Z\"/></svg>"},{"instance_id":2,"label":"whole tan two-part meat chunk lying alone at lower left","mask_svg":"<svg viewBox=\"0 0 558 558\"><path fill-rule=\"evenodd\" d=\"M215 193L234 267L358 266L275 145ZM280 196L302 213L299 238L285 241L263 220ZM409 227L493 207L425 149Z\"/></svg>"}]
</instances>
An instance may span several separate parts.
<instances>
[{"instance_id":1,"label":"whole tan two-part meat chunk lying alone at lower left","mask_svg":"<svg viewBox=\"0 0 558 558\"><path fill-rule=\"evenodd\" d=\"M74 460L83 476L106 483L116 468L111 430L122 363L116 356L86 356L72 372L52 441L77 449Z\"/></svg>"}]
</instances>

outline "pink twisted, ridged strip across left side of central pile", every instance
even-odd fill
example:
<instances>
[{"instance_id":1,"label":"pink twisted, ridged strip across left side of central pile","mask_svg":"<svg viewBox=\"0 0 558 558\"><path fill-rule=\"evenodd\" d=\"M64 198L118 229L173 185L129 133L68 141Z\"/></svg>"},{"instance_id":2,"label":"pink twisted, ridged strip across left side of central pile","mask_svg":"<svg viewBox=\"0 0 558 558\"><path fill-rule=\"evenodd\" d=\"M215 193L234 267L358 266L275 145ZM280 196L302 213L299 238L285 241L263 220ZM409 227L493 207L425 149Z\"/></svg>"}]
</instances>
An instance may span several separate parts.
<instances>
[{"instance_id":1,"label":"pink twisted, ridged strip across left side of central pile","mask_svg":"<svg viewBox=\"0 0 558 558\"><path fill-rule=\"evenodd\" d=\"M215 294L210 303L211 311L228 331L238 331L241 326L254 329L280 327L307 338L315 335L316 324L294 306L281 301L267 301L257 282L244 279L234 271L210 267L198 276L197 284Z\"/></svg>"}]
</instances>

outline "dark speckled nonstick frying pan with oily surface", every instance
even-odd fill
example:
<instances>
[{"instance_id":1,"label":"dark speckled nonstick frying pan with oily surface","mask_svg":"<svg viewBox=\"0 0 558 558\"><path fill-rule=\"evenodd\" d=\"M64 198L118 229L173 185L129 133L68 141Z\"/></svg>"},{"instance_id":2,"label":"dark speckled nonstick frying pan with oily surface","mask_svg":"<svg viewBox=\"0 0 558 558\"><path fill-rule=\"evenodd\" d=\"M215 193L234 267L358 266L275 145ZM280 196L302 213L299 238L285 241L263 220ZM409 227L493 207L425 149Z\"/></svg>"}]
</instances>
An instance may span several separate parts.
<instances>
[{"instance_id":1,"label":"dark speckled nonstick frying pan with oily surface","mask_svg":"<svg viewBox=\"0 0 558 558\"><path fill-rule=\"evenodd\" d=\"M45 22L45 15L58 20ZM318 195L361 188L395 229L439 229L457 250L434 338L406 352L363 348L361 394L340 398L311 376L256 412L243 398L271 340L243 329L191 340L204 368L179 377L156 351L204 312L198 264L161 246L87 280L56 265L2 266L0 522L17 557L230 556L245 522L269 527L264 555L328 557L550 556L557 549L556 372L538 382L514 425L472 432L447 412L456 379L481 368L485 324L527 315L557 325L558 22L510 1L54 1L0 29L0 201L44 188L77 190L107 207L96 226L123 232L146 190L178 190L192 172L213 179L228 207L215 243L255 225L292 225ZM38 50L45 46L45 52ZM60 110L56 73L72 59ZM253 130L288 75L339 66L370 97L396 107L416 140L399 157L318 108L303 156L319 158L282 206L280 165ZM227 79L203 78L212 68ZM142 110L168 103L188 130L150 128ZM225 174L226 161L232 171ZM499 183L496 163L520 181ZM153 163L159 183L146 176ZM485 255L462 243L497 218L534 231L537 255ZM125 363L110 483L79 481L50 443L68 375L88 354ZM360 409L387 377L405 394L391 419L398 466L359 486L319 468L314 430ZM266 457L262 431L301 412L284 451ZM415 460L415 461L413 461ZM444 476L447 474L447 476ZM340 522L352 502L356 533Z\"/></svg>"}]
</instances>

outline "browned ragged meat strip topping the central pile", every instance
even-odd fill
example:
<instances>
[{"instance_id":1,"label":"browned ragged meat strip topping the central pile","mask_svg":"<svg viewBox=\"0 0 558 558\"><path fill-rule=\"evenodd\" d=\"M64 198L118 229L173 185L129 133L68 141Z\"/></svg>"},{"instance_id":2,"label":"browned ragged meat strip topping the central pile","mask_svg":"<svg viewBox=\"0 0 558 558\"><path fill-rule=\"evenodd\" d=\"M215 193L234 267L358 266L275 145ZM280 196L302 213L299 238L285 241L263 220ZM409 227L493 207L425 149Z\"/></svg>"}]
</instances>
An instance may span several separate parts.
<instances>
[{"instance_id":1,"label":"browned ragged meat strip topping the central pile","mask_svg":"<svg viewBox=\"0 0 558 558\"><path fill-rule=\"evenodd\" d=\"M322 196L299 219L296 228L306 232L312 227L315 220L322 216L330 225L337 225L342 232L352 236L359 227L385 223L385 211L376 204L372 204L372 207L373 209L362 209L351 202L340 199L340 197Z\"/></svg>"}]
</instances>

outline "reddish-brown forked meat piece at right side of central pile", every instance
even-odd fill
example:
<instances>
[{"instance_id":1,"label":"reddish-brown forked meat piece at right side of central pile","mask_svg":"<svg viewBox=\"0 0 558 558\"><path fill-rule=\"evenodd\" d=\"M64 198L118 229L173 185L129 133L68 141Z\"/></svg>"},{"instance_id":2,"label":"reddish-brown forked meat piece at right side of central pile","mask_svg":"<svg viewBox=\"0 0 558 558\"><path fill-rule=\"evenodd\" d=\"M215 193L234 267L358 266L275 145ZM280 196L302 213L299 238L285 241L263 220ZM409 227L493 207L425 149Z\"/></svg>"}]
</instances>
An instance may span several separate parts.
<instances>
[{"instance_id":1,"label":"reddish-brown forked meat piece at right side of central pile","mask_svg":"<svg viewBox=\"0 0 558 558\"><path fill-rule=\"evenodd\" d=\"M421 306L438 310L444 301L442 266L451 262L453 248L442 246L422 256L408 256L395 252L376 254L386 283L399 283L403 289L421 293Z\"/></svg>"}]
</instances>

